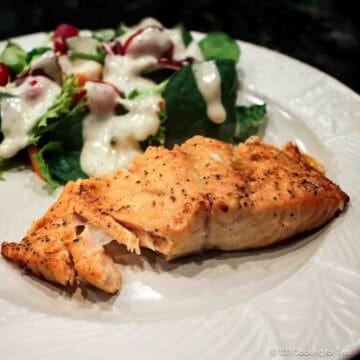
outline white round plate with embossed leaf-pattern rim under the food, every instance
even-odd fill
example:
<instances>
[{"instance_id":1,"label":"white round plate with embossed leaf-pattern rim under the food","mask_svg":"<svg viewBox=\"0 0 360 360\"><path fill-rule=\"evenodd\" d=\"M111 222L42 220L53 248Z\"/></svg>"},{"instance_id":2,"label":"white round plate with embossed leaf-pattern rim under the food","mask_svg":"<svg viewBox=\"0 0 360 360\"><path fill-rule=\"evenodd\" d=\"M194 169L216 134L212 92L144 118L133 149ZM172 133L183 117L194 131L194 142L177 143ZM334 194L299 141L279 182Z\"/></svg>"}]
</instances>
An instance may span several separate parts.
<instances>
[{"instance_id":1,"label":"white round plate with embossed leaf-pattern rim under the food","mask_svg":"<svg viewBox=\"0 0 360 360\"><path fill-rule=\"evenodd\" d=\"M123 256L113 297L69 294L0 259L1 359L336 359L360 344L360 98L308 65L241 46L240 96L269 104L265 139L323 162L350 195L346 213L273 249L174 264ZM0 236L18 241L54 196L29 170L6 177Z\"/></svg>"}]
</instances>

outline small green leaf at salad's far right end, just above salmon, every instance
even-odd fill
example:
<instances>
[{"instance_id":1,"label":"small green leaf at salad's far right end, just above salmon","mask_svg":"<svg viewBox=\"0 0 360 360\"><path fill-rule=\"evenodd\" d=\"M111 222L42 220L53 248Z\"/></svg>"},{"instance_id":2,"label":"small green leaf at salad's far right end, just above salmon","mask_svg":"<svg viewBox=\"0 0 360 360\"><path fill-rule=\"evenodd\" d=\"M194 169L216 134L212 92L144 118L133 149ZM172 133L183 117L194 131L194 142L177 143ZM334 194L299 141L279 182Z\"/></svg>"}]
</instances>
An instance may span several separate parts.
<instances>
[{"instance_id":1,"label":"small green leaf at salad's far right end, just above salmon","mask_svg":"<svg viewBox=\"0 0 360 360\"><path fill-rule=\"evenodd\" d=\"M255 135L266 121L266 105L236 107L236 128L234 141L246 140Z\"/></svg>"}]
</instances>

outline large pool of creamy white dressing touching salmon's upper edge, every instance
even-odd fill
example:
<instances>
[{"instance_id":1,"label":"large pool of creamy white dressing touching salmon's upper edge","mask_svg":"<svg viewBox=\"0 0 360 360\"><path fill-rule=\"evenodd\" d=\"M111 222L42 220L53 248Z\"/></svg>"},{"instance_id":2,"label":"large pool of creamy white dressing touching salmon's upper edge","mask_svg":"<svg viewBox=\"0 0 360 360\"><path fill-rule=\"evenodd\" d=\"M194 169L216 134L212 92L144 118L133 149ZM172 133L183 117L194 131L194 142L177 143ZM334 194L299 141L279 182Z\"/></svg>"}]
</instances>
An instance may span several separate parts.
<instances>
[{"instance_id":1,"label":"large pool of creamy white dressing touching salmon's upper edge","mask_svg":"<svg viewBox=\"0 0 360 360\"><path fill-rule=\"evenodd\" d=\"M89 98L100 98L96 91L104 91L103 84L91 86ZM109 85L107 85L109 86ZM84 145L81 151L80 164L83 171L90 176L97 176L126 168L132 160L142 153L139 141L155 135L160 120L159 95L138 97L134 100L118 98L127 110L125 115L114 115L113 112L91 112L83 122ZM90 100L91 101L91 100Z\"/></svg>"}]
</instances>

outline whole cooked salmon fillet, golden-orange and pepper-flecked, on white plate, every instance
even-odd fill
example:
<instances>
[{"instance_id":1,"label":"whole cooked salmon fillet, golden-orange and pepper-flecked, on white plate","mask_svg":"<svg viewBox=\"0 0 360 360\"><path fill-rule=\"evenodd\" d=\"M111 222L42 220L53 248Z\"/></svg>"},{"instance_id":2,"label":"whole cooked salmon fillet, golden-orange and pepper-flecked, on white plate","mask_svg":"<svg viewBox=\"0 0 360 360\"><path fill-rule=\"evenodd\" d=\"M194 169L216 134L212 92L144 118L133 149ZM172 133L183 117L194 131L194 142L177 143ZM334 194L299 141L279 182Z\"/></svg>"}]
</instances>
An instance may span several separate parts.
<instances>
[{"instance_id":1,"label":"whole cooked salmon fillet, golden-orange and pepper-flecked, on white plate","mask_svg":"<svg viewBox=\"0 0 360 360\"><path fill-rule=\"evenodd\" d=\"M172 150L150 147L129 170L70 182L43 218L2 254L62 285L75 279L114 293L111 240L171 260L217 248L258 248L324 225L348 196L316 161L288 144L252 137L233 148L195 136Z\"/></svg>"}]
</instances>

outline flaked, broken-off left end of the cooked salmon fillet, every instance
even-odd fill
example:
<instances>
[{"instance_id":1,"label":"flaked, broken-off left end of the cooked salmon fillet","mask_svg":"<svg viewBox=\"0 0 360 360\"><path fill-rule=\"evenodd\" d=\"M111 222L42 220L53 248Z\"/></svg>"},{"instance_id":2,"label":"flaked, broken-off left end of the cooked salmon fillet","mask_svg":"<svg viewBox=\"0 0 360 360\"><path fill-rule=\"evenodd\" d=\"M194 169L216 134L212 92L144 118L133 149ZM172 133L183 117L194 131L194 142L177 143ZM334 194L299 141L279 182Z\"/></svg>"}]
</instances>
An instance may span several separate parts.
<instances>
[{"instance_id":1,"label":"flaked, broken-off left end of the cooked salmon fillet","mask_svg":"<svg viewBox=\"0 0 360 360\"><path fill-rule=\"evenodd\" d=\"M73 285L77 278L113 293L121 284L120 271L75 214L75 189L77 185L70 182L19 244L2 244L2 254L49 281Z\"/></svg>"}]
</instances>

